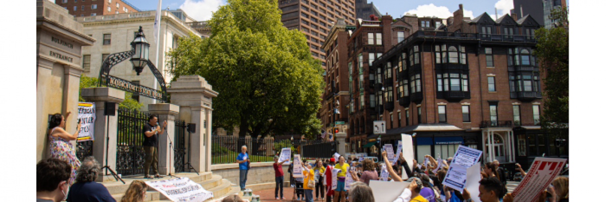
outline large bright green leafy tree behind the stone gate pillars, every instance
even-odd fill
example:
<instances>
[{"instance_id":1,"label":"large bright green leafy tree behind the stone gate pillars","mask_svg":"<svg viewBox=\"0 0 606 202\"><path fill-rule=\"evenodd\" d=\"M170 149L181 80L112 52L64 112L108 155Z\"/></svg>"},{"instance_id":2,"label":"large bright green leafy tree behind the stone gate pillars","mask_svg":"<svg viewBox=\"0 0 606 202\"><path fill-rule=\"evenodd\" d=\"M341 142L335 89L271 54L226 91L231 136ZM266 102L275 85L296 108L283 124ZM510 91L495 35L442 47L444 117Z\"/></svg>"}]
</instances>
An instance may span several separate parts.
<instances>
[{"instance_id":1,"label":"large bright green leafy tree behind the stone gate pillars","mask_svg":"<svg viewBox=\"0 0 606 202\"><path fill-rule=\"evenodd\" d=\"M282 26L276 0L228 0L208 21L211 35L179 39L170 71L204 77L219 96L213 127L239 136L319 133L322 67L305 35Z\"/></svg>"}]
</instances>

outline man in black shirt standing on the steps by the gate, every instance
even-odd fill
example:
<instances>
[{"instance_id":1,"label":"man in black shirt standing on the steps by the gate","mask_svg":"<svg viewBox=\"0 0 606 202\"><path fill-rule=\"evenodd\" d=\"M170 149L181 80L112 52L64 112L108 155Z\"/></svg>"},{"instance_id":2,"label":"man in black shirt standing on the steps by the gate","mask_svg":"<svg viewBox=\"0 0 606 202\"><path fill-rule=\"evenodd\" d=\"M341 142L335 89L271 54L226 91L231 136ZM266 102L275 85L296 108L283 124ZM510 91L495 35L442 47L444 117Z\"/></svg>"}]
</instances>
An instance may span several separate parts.
<instances>
[{"instance_id":1,"label":"man in black shirt standing on the steps by the gate","mask_svg":"<svg viewBox=\"0 0 606 202\"><path fill-rule=\"evenodd\" d=\"M151 178L151 169L155 173L156 178L161 178L158 174L158 134L161 134L166 130L166 121L162 126L162 129L158 126L158 116L151 115L148 119L147 124L143 126L143 149L145 150L145 163L143 164L143 172L145 178Z\"/></svg>"}]
</instances>

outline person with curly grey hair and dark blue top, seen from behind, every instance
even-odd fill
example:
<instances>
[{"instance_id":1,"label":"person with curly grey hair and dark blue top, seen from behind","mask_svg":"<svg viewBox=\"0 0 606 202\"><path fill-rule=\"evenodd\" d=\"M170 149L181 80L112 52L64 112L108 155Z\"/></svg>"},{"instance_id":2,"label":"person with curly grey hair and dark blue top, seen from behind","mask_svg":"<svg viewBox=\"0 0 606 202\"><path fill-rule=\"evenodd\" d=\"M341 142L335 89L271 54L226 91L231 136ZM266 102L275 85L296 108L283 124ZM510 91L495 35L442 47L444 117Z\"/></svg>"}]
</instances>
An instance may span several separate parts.
<instances>
[{"instance_id":1,"label":"person with curly grey hair and dark blue top, seen from behind","mask_svg":"<svg viewBox=\"0 0 606 202\"><path fill-rule=\"evenodd\" d=\"M76 183L70 187L67 202L71 201L110 201L116 202L110 192L101 183L95 182L101 173L101 164L95 157L86 157L78 169Z\"/></svg>"}]
</instances>

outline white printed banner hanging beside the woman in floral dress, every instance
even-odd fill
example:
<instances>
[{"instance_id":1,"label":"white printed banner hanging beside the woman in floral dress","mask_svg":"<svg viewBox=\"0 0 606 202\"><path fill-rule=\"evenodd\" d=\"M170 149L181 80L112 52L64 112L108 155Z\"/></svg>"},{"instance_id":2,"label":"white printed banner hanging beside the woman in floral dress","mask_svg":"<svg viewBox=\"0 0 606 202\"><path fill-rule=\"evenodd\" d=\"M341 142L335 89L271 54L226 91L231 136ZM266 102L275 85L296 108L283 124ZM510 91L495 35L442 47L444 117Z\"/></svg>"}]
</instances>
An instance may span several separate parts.
<instances>
[{"instance_id":1,"label":"white printed banner hanging beside the woman in floral dress","mask_svg":"<svg viewBox=\"0 0 606 202\"><path fill-rule=\"evenodd\" d=\"M95 103L78 103L78 141L95 140Z\"/></svg>"}]
</instances>

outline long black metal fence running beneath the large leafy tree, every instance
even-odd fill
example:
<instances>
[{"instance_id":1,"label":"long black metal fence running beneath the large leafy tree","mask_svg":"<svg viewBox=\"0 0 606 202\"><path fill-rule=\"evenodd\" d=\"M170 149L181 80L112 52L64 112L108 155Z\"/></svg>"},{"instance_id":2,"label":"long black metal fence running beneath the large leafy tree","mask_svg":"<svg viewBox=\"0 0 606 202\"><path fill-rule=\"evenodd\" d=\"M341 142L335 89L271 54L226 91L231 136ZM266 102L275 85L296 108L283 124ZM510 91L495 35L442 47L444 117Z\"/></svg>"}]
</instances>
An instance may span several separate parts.
<instances>
[{"instance_id":1,"label":"long black metal fence running beneath the large leafy tree","mask_svg":"<svg viewBox=\"0 0 606 202\"><path fill-rule=\"evenodd\" d=\"M291 153L302 158L330 158L336 150L335 142L323 140L272 140L261 138L241 138L239 136L212 136L212 163L235 163L241 147L247 146L251 162L271 162L282 148L290 147Z\"/></svg>"}]
</instances>

